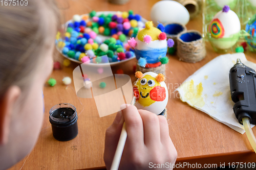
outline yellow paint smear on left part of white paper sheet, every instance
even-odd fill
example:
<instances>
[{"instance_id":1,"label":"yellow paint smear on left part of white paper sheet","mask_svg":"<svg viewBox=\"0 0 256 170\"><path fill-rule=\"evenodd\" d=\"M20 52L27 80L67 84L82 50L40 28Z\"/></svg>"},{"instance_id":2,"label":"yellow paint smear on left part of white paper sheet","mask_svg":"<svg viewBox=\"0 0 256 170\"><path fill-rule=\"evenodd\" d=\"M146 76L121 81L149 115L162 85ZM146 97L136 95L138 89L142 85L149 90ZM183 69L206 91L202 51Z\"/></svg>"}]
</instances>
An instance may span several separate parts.
<instances>
[{"instance_id":1,"label":"yellow paint smear on left part of white paper sheet","mask_svg":"<svg viewBox=\"0 0 256 170\"><path fill-rule=\"evenodd\" d=\"M181 89L184 91L184 101L190 102L189 105L197 106L199 108L204 106L204 99L202 97L203 85L202 82L194 85L194 81L188 81L182 84Z\"/></svg>"}]
</instances>

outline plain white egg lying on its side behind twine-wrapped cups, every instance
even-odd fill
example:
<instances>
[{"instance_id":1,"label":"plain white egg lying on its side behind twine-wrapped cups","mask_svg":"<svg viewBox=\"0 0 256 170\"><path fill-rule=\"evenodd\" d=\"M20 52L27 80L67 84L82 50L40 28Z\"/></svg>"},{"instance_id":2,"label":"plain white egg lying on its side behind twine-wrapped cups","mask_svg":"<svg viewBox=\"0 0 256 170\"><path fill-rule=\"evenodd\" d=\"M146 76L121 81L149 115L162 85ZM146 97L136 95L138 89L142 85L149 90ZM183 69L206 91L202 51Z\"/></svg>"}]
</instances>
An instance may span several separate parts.
<instances>
[{"instance_id":1,"label":"plain white egg lying on its side behind twine-wrapped cups","mask_svg":"<svg viewBox=\"0 0 256 170\"><path fill-rule=\"evenodd\" d=\"M151 9L151 20L156 26L158 22L186 25L189 21L189 13L183 5L176 1L159 1Z\"/></svg>"}]
</instances>

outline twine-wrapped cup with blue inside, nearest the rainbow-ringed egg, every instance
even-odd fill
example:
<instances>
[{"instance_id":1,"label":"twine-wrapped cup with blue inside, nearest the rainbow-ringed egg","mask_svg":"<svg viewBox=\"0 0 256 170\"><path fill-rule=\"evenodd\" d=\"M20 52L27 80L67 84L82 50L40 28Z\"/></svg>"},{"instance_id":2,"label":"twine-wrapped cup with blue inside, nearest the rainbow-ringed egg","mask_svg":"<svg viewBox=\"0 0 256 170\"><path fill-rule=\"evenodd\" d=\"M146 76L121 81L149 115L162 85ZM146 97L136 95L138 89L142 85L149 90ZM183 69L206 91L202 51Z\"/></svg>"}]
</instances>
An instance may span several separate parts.
<instances>
[{"instance_id":1,"label":"twine-wrapped cup with blue inside, nearest the rainbow-ringed egg","mask_svg":"<svg viewBox=\"0 0 256 170\"><path fill-rule=\"evenodd\" d=\"M184 34L194 33L199 35L201 38L189 42L184 42L181 36ZM182 32L177 36L178 46L177 55L180 60L190 63L201 61L206 56L205 42L202 38L202 34L196 30L189 30Z\"/></svg>"}]
</instances>

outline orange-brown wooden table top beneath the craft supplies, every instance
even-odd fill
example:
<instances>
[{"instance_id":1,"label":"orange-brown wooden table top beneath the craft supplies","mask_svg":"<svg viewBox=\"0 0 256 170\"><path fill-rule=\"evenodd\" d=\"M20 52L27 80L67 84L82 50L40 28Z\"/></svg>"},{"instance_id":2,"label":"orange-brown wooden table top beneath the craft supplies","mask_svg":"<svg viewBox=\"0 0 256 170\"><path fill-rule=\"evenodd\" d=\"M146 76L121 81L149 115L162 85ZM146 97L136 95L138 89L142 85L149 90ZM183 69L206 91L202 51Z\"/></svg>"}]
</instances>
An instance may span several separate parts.
<instances>
[{"instance_id":1,"label":"orange-brown wooden table top beneath the craft supplies","mask_svg":"<svg viewBox=\"0 0 256 170\"><path fill-rule=\"evenodd\" d=\"M109 4L106 0L88 1L61 1L59 0L63 21L72 18L74 14L84 14L91 10L96 11L127 11L135 13L150 20L151 7L157 0L131 0L123 6ZM202 17L198 16L187 24L188 30L202 32ZM192 64L178 60L176 56L169 57L166 71L166 84L169 84L168 123L170 137L178 152L177 163L217 163L220 162L255 162L256 154L252 152L246 134L230 129L217 122L207 114L188 106L177 98L174 90L196 70L204 64L219 56L209 43L206 44L207 56L201 62ZM256 54L246 52L246 57L256 62ZM59 54L58 54L59 55ZM60 55L59 55L60 56ZM135 81L133 65L136 59L112 68L123 68L124 74L130 75ZM54 87L45 86L45 119L42 131L35 148L29 157L24 158L10 169L98 169L104 167L103 151L105 130L108 128L116 114L99 117L94 99L81 99L76 96L74 86L67 89L62 84L62 78L72 77L73 69L78 66L72 63L70 67L54 70L51 77L57 80ZM175 94L175 95L174 95ZM60 142L53 138L51 124L49 123L49 110L59 103L71 103L78 110L78 136L67 142ZM200 120L200 123L199 121ZM256 128L253 128L256 134ZM27 159L28 158L28 159Z\"/></svg>"}]
</instances>

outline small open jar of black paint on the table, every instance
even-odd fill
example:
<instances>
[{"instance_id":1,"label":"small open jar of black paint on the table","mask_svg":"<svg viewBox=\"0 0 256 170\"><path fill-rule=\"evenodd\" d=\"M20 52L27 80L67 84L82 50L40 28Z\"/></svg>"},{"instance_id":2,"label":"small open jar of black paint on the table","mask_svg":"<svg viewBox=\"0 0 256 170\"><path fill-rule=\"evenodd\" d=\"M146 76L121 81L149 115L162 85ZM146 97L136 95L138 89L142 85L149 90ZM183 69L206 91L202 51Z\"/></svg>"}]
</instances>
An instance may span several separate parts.
<instances>
[{"instance_id":1,"label":"small open jar of black paint on the table","mask_svg":"<svg viewBox=\"0 0 256 170\"><path fill-rule=\"evenodd\" d=\"M50 123L52 134L56 140L68 141L78 134L77 112L75 106L62 103L55 105L50 110Z\"/></svg>"}]
</instances>

